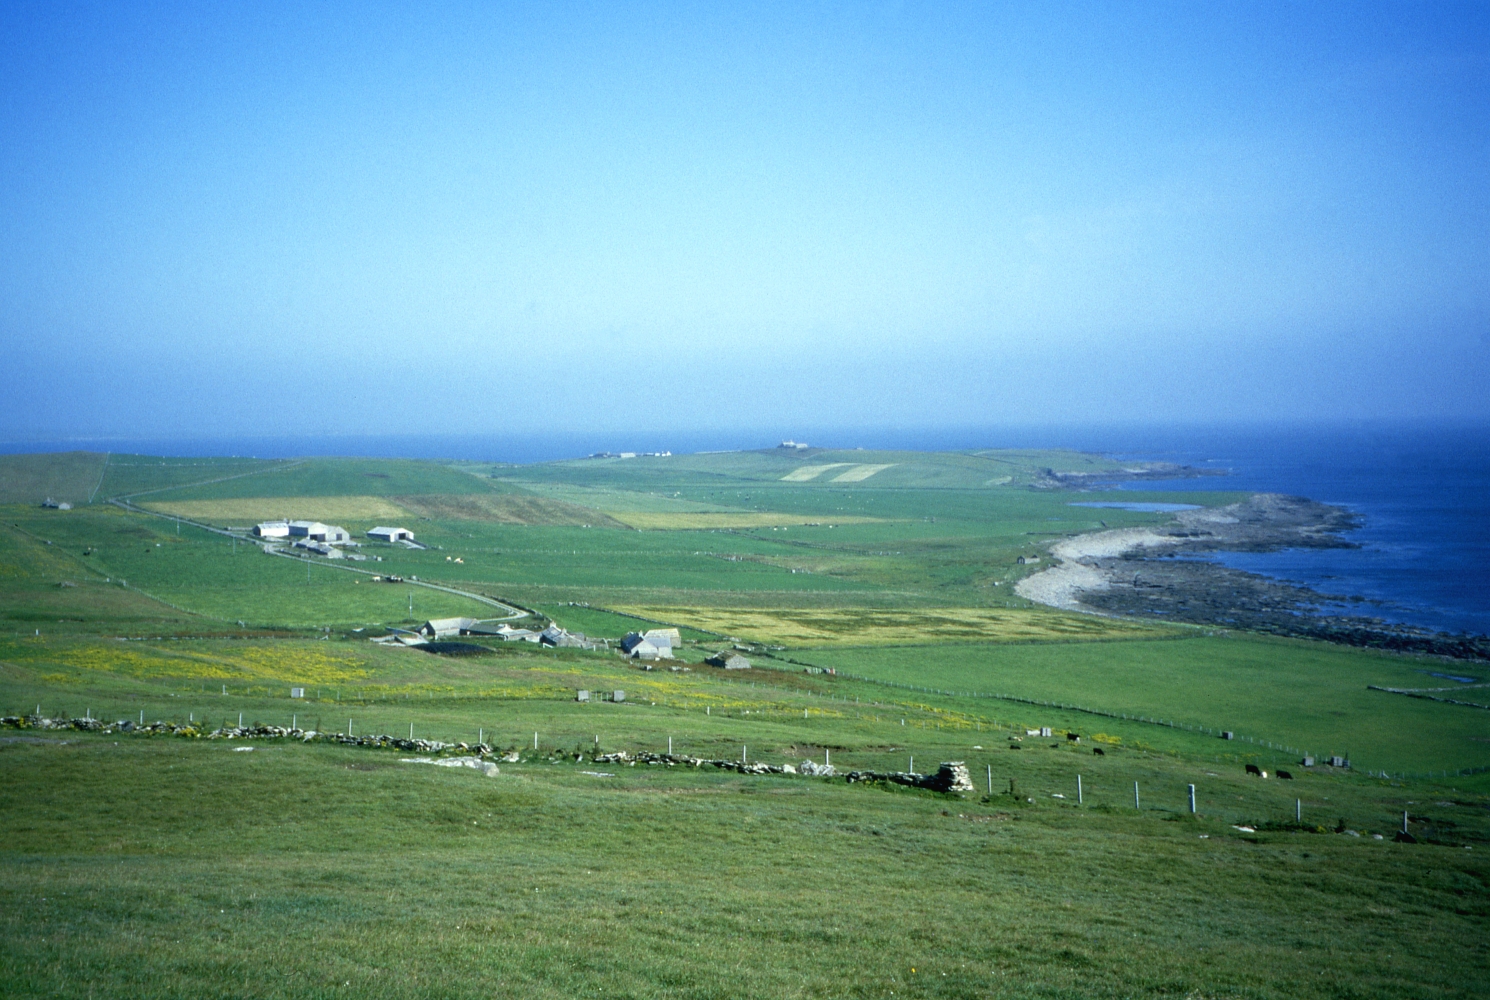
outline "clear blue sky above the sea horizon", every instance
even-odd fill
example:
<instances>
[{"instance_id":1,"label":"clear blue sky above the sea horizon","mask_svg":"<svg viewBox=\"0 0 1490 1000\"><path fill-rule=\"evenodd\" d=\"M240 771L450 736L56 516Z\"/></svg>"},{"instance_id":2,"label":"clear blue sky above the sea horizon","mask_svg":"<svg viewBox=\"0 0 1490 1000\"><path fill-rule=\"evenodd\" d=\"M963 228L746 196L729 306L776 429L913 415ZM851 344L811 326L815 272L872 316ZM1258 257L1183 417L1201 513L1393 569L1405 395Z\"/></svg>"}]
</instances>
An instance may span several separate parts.
<instances>
[{"instance_id":1,"label":"clear blue sky above the sea horizon","mask_svg":"<svg viewBox=\"0 0 1490 1000\"><path fill-rule=\"evenodd\" d=\"M0 10L0 435L1486 420L1487 276L1486 4Z\"/></svg>"}]
</instances>

